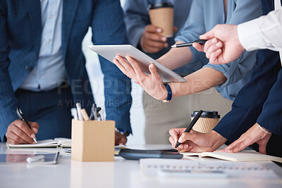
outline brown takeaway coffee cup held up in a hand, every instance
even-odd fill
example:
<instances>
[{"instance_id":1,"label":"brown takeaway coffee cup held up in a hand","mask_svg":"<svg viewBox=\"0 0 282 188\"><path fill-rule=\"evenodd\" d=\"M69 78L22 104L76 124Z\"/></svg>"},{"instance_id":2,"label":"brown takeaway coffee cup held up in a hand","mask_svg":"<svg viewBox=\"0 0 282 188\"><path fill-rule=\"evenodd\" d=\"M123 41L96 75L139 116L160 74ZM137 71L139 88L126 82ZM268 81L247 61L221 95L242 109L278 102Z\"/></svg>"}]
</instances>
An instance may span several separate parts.
<instances>
[{"instance_id":1,"label":"brown takeaway coffee cup held up in a hand","mask_svg":"<svg viewBox=\"0 0 282 188\"><path fill-rule=\"evenodd\" d=\"M148 11L152 25L163 30L161 35L173 37L173 4L150 4Z\"/></svg>"}]
</instances>

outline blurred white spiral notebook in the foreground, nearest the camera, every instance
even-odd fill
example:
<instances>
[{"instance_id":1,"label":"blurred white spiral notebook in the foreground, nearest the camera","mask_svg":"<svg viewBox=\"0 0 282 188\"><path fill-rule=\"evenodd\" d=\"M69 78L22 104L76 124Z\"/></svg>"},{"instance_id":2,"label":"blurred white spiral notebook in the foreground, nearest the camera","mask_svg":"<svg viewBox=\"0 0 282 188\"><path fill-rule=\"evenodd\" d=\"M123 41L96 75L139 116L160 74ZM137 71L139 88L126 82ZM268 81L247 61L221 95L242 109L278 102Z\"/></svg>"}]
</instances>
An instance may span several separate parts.
<instances>
[{"instance_id":1,"label":"blurred white spiral notebook in the foreground, nearest the camera","mask_svg":"<svg viewBox=\"0 0 282 188\"><path fill-rule=\"evenodd\" d=\"M142 158L140 170L144 175L165 177L262 177L278 178L262 163L232 161L191 161L188 159Z\"/></svg>"}]
</instances>

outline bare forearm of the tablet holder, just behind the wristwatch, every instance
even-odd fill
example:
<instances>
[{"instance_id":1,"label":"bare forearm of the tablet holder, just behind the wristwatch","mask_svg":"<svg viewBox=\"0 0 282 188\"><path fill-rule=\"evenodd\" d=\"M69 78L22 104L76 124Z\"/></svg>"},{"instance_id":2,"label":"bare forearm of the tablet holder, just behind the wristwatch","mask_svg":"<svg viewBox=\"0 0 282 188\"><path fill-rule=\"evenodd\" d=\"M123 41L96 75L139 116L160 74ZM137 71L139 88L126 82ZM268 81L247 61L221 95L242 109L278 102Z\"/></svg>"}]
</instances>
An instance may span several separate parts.
<instances>
[{"instance_id":1,"label":"bare forearm of the tablet holder, just behind the wristwatch","mask_svg":"<svg viewBox=\"0 0 282 188\"><path fill-rule=\"evenodd\" d=\"M218 70L205 67L184 77L186 82L173 82L171 89L173 97L195 94L226 82L226 77Z\"/></svg>"}]
</instances>

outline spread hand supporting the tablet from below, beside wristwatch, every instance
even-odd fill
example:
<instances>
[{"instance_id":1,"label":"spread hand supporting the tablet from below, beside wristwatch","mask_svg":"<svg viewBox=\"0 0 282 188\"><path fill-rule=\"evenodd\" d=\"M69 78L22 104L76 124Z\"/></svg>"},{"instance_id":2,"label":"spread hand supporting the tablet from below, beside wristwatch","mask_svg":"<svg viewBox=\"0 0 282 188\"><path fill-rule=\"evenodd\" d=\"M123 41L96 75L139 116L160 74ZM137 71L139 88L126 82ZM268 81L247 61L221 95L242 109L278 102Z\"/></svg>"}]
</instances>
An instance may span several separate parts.
<instances>
[{"instance_id":1,"label":"spread hand supporting the tablet from below, beside wristwatch","mask_svg":"<svg viewBox=\"0 0 282 188\"><path fill-rule=\"evenodd\" d=\"M139 84L149 95L153 96L155 99L164 100L167 97L167 90L161 80L161 76L157 73L156 66L152 63L149 65L150 75L145 75L142 72L140 66L137 62L130 56L126 56L127 63L121 56L116 56L114 63L118 68L131 79Z\"/></svg>"}]
</instances>

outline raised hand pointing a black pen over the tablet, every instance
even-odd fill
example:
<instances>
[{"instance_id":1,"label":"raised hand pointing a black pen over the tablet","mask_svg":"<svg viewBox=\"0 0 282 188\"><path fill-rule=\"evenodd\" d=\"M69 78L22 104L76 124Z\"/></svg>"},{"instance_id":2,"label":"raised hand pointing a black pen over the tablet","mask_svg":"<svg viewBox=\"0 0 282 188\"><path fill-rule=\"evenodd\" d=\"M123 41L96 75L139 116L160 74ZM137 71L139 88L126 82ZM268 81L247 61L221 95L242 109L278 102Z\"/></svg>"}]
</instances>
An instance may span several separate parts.
<instances>
[{"instance_id":1,"label":"raised hand pointing a black pen over the tablet","mask_svg":"<svg viewBox=\"0 0 282 188\"><path fill-rule=\"evenodd\" d=\"M216 39L219 39L218 42ZM226 64L239 58L245 51L238 38L237 25L216 25L212 30L200 36L200 39L209 41L204 44L194 43L193 46L207 53L209 62L212 64Z\"/></svg>"}]
</instances>

